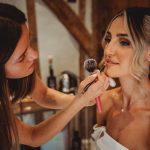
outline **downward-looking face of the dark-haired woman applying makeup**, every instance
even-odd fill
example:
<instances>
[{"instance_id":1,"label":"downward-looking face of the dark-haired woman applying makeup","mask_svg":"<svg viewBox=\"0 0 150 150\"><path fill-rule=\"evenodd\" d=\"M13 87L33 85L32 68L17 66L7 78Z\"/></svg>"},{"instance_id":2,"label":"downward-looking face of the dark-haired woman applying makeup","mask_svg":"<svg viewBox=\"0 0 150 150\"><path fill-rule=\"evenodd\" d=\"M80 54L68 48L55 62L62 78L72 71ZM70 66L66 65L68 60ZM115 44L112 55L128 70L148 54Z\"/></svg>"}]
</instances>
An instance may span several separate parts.
<instances>
[{"instance_id":1,"label":"downward-looking face of the dark-haired woman applying makeup","mask_svg":"<svg viewBox=\"0 0 150 150\"><path fill-rule=\"evenodd\" d=\"M10 59L5 64L8 78L22 78L30 75L35 67L38 54L29 44L29 34L26 25L22 26L22 36Z\"/></svg>"}]
</instances>

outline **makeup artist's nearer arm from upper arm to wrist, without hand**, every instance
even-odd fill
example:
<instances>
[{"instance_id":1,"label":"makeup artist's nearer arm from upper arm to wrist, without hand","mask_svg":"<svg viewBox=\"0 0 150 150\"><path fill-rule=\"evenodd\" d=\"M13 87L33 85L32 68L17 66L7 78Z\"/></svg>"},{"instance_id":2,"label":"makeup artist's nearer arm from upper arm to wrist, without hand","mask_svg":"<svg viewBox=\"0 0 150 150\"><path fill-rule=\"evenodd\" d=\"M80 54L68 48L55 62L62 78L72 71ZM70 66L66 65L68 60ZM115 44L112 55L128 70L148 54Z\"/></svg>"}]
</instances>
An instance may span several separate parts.
<instances>
[{"instance_id":1,"label":"makeup artist's nearer arm from upper arm to wrist, without hand","mask_svg":"<svg viewBox=\"0 0 150 150\"><path fill-rule=\"evenodd\" d=\"M17 120L20 144L38 147L48 142L67 125L80 109L79 105L74 106L74 104L71 104L63 111L56 113L35 126L29 126Z\"/></svg>"}]
</instances>

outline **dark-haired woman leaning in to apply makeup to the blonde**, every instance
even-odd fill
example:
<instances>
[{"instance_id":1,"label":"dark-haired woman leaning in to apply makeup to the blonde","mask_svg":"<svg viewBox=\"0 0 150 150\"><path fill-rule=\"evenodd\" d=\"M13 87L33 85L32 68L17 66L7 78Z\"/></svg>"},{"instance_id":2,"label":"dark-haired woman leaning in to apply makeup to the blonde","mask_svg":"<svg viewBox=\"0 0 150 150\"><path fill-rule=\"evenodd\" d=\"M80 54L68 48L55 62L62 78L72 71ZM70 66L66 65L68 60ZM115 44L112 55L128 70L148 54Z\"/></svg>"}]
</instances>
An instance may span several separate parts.
<instances>
[{"instance_id":1,"label":"dark-haired woman leaning in to apply makeup to the blonde","mask_svg":"<svg viewBox=\"0 0 150 150\"><path fill-rule=\"evenodd\" d=\"M95 104L100 95L99 72L81 82L77 95L48 88L35 72L38 58L29 43L29 29L23 12L0 3L0 149L18 150L19 144L44 144L62 130L84 107ZM98 77L83 94L84 87ZM101 77L100 77L101 78ZM63 109L47 120L31 126L13 114L12 103L29 95L43 107Z\"/></svg>"}]
</instances>

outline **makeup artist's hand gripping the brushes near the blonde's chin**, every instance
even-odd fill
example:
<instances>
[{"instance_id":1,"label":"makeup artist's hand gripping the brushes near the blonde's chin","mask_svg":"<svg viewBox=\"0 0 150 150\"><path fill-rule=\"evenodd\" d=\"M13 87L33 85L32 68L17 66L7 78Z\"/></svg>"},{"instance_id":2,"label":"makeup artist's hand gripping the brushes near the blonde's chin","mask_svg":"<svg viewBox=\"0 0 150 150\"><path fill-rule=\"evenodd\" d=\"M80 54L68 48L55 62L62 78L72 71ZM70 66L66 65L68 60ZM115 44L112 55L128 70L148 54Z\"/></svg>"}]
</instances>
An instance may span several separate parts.
<instances>
[{"instance_id":1,"label":"makeup artist's hand gripping the brushes near the blonde's chin","mask_svg":"<svg viewBox=\"0 0 150 150\"><path fill-rule=\"evenodd\" d=\"M85 91L85 87L91 82L93 83ZM104 73L97 71L80 83L75 99L76 101L80 101L83 107L94 105L96 103L95 98L102 95L108 87L108 77Z\"/></svg>"}]
</instances>

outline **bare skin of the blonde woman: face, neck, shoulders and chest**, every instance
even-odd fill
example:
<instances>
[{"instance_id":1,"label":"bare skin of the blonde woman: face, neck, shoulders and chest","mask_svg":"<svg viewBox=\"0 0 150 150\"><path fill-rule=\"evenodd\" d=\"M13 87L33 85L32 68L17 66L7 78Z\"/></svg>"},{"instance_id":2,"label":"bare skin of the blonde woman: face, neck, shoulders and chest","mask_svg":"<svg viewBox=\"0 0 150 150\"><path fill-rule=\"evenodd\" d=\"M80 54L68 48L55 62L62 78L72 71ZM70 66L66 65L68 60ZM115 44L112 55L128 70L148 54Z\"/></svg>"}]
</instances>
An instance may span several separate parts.
<instances>
[{"instance_id":1,"label":"bare skin of the blonde woman: face, neck, shoulders and chest","mask_svg":"<svg viewBox=\"0 0 150 150\"><path fill-rule=\"evenodd\" d=\"M119 78L121 86L103 93L98 124L106 126L107 133L128 149L149 150L150 81L145 77L141 82L140 86L147 92L145 96L129 73L134 50L123 17L112 22L105 41L106 74Z\"/></svg>"}]
</instances>

